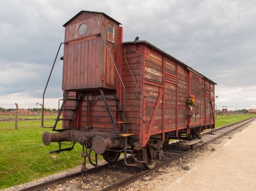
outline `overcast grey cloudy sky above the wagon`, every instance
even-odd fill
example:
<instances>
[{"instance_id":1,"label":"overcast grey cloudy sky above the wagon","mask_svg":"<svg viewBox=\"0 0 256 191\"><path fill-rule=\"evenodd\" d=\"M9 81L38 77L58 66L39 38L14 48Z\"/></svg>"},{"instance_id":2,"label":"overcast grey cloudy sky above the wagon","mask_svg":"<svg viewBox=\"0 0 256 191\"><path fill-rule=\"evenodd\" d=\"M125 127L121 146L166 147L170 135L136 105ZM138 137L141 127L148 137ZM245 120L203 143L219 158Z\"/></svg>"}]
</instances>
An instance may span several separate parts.
<instances>
[{"instance_id":1,"label":"overcast grey cloudy sky above the wagon","mask_svg":"<svg viewBox=\"0 0 256 191\"><path fill-rule=\"evenodd\" d=\"M64 41L62 25L80 10L110 15L123 24L124 40L139 36L217 82L218 108L256 108L256 2L234 0L1 0L0 106L42 102ZM56 108L62 95L61 70L58 58L45 95L48 108Z\"/></svg>"}]
</instances>

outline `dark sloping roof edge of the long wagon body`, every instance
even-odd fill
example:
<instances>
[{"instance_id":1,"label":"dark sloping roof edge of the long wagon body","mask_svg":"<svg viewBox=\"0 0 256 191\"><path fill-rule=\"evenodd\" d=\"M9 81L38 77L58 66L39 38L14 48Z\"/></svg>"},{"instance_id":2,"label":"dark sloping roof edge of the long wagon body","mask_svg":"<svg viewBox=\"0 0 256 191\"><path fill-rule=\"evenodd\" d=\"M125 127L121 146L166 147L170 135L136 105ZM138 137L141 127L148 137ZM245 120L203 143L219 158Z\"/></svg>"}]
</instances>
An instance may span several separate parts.
<instances>
[{"instance_id":1,"label":"dark sloping roof edge of the long wagon body","mask_svg":"<svg viewBox=\"0 0 256 191\"><path fill-rule=\"evenodd\" d=\"M124 42L123 42L123 44L130 44L130 43L133 43L133 44L134 44L134 41L124 41ZM177 61L179 64L184 65L187 69L193 71L193 72L196 73L196 74L199 74L199 75L203 76L203 77L204 77L205 79L207 79L208 81L210 81L210 82L214 83L215 85L217 85L217 83L215 83L214 81L208 79L208 77L206 77L206 76L200 74L198 71L196 71L196 70L194 70L193 68L189 67L189 65L185 64L184 62L179 61L177 58L174 58L173 56L171 56L171 55L169 55L168 53L164 52L163 50L159 49L159 48L156 47L155 45L152 45L152 44L149 43L148 41L146 41L146 40L138 40L138 41L136 41L136 44L137 44L137 43L146 44L147 46L152 47L153 49L157 50L158 52L163 53L163 55L165 55L165 56L167 56L167 57L169 57L169 58L171 58L171 59L174 59L174 60Z\"/></svg>"}]
</instances>

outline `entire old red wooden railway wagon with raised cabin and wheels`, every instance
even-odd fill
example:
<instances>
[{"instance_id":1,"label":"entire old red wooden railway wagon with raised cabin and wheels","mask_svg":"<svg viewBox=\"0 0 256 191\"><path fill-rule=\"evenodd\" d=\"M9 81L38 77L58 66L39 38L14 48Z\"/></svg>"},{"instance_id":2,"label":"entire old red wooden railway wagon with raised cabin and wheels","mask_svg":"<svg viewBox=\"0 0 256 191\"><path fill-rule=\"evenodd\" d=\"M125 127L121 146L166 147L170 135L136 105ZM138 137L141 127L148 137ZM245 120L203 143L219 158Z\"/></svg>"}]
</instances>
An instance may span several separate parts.
<instances>
[{"instance_id":1,"label":"entire old red wooden railway wagon with raised cabin and wheels","mask_svg":"<svg viewBox=\"0 0 256 191\"><path fill-rule=\"evenodd\" d=\"M125 163L134 165L129 154L153 168L169 139L192 141L214 128L216 83L138 37L123 42L120 25L94 11L80 11L65 23L64 96L53 127L58 133L44 132L43 142L59 142L53 152L79 142L95 166L92 151L109 163L124 153ZM60 120L62 129L56 128ZM73 145L61 148L62 141Z\"/></svg>"}]
</instances>

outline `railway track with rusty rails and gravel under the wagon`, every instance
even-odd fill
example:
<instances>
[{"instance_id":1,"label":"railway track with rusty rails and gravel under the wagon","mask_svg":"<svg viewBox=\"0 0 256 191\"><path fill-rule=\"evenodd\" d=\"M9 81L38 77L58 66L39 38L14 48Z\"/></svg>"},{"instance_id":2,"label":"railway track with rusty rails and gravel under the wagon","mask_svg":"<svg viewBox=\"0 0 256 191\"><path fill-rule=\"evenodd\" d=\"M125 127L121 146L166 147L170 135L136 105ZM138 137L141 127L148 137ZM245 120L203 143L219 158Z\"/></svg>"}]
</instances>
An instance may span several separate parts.
<instances>
[{"instance_id":1,"label":"railway track with rusty rails and gravel under the wagon","mask_svg":"<svg viewBox=\"0 0 256 191\"><path fill-rule=\"evenodd\" d=\"M201 139L202 141L198 142L192 149L190 146L185 145L185 141L183 144L181 142L169 144L164 151L164 156L166 156L166 158L153 169L144 170L142 166L128 167L124 165L123 160L118 160L113 164L104 164L98 168L88 169L87 184L82 183L80 178L81 172L77 172L75 174L56 178L51 181L39 183L35 186L22 188L20 191L115 190L117 188L126 186L127 184L132 183L140 178L143 178L144 176L149 175L151 172L163 168L174 160L194 152L209 143L215 145L220 144L224 139L230 137L232 134L240 130L241 127L245 126L247 123L253 120L255 120L255 117L203 133Z\"/></svg>"}]
</instances>

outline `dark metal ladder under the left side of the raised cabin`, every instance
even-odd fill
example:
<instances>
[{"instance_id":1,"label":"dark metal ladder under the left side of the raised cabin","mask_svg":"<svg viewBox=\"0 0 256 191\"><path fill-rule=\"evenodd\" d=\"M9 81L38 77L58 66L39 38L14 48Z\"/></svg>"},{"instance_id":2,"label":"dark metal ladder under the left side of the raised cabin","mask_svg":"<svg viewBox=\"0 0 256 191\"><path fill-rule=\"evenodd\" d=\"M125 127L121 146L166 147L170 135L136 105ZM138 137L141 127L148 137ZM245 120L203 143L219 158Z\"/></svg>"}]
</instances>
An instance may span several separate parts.
<instances>
[{"instance_id":1,"label":"dark metal ladder under the left side of the raised cabin","mask_svg":"<svg viewBox=\"0 0 256 191\"><path fill-rule=\"evenodd\" d=\"M70 98L68 98L69 97L69 91L66 91L64 93L63 102L62 102L61 107L59 109L58 116L57 116L57 118L55 120L55 123L54 123L54 126L53 126L53 131L56 131L56 132L62 131L62 129L56 129L57 124L58 124L59 121L69 121L69 127L71 128L71 122L72 122L73 118L75 117L76 109L77 109L77 107L79 105L79 101L81 100L82 96L83 96L83 93L79 92L78 93L78 97L76 99L70 99ZM73 109L66 109L66 108L64 108L65 103L67 101L75 101L76 102L75 107ZM68 118L68 119L60 118L60 116L62 114L62 111L72 111L71 117Z\"/></svg>"}]
</instances>

